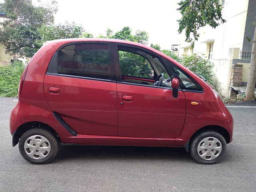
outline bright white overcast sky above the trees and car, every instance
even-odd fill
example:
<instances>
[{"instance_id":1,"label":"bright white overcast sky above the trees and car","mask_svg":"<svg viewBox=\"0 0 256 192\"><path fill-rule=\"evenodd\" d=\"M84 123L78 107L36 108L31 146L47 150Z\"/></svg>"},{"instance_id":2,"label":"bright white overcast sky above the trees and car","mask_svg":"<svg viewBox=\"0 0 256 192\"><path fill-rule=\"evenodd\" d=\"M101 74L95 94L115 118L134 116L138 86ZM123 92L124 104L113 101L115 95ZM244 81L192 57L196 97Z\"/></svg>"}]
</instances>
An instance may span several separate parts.
<instances>
[{"instance_id":1,"label":"bright white overcast sky above the trees and car","mask_svg":"<svg viewBox=\"0 0 256 192\"><path fill-rule=\"evenodd\" d=\"M81 24L94 37L105 34L107 28L116 32L129 26L133 33L136 30L148 32L149 45L159 44L162 49L170 49L172 44L178 44L177 19L180 14L176 9L180 0L56 1L56 24L65 21Z\"/></svg>"}]
</instances>

